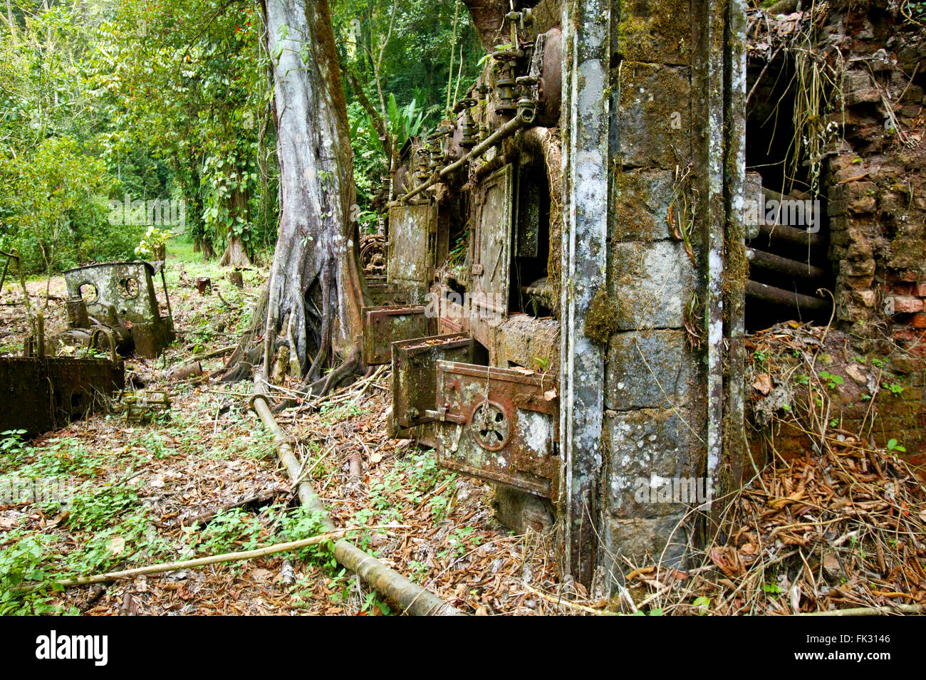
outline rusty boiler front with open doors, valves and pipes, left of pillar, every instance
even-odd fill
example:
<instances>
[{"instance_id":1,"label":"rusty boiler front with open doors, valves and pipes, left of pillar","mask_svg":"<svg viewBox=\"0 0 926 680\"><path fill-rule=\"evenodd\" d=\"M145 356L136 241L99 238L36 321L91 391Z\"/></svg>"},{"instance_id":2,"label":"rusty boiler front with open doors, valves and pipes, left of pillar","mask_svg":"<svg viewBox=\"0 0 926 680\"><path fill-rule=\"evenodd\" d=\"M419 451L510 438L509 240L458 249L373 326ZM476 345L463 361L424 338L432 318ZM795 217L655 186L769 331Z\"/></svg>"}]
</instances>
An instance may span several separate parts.
<instances>
[{"instance_id":1,"label":"rusty boiler front with open doors, valves and pipes, left of pillar","mask_svg":"<svg viewBox=\"0 0 926 680\"><path fill-rule=\"evenodd\" d=\"M530 10L507 25L511 43L455 117L401 150L384 254L402 295L363 309L363 354L393 366L391 436L434 447L444 468L556 501L553 211L544 152L527 140L557 125L560 34L537 35Z\"/></svg>"}]
</instances>

